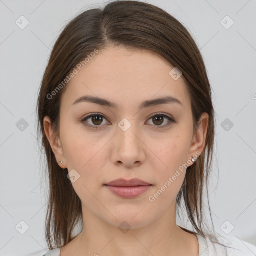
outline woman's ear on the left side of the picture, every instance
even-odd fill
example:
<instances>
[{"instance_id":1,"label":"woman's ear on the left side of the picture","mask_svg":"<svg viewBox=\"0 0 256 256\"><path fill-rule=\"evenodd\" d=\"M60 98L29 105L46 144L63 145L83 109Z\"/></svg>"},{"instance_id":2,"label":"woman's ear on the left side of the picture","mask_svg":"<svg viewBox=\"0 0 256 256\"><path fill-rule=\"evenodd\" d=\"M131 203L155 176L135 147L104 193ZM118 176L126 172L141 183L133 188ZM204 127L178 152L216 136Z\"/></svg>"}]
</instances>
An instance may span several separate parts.
<instances>
[{"instance_id":1,"label":"woman's ear on the left side of the picture","mask_svg":"<svg viewBox=\"0 0 256 256\"><path fill-rule=\"evenodd\" d=\"M57 137L56 134L53 132L49 116L44 116L43 127L59 167L61 167L62 169L67 168L60 138ZM63 161L62 164L60 163L61 161Z\"/></svg>"}]
</instances>

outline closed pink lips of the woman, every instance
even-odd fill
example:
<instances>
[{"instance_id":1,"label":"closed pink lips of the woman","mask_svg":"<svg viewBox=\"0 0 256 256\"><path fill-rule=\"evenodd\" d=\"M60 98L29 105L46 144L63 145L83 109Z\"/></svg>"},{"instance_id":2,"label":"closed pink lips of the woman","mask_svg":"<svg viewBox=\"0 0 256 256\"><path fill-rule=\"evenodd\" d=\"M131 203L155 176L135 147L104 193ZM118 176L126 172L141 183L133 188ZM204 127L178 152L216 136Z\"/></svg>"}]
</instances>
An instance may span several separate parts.
<instances>
[{"instance_id":1,"label":"closed pink lips of the woman","mask_svg":"<svg viewBox=\"0 0 256 256\"><path fill-rule=\"evenodd\" d=\"M134 198L148 190L152 185L138 178L115 179L104 184L113 194L122 198Z\"/></svg>"}]
</instances>

